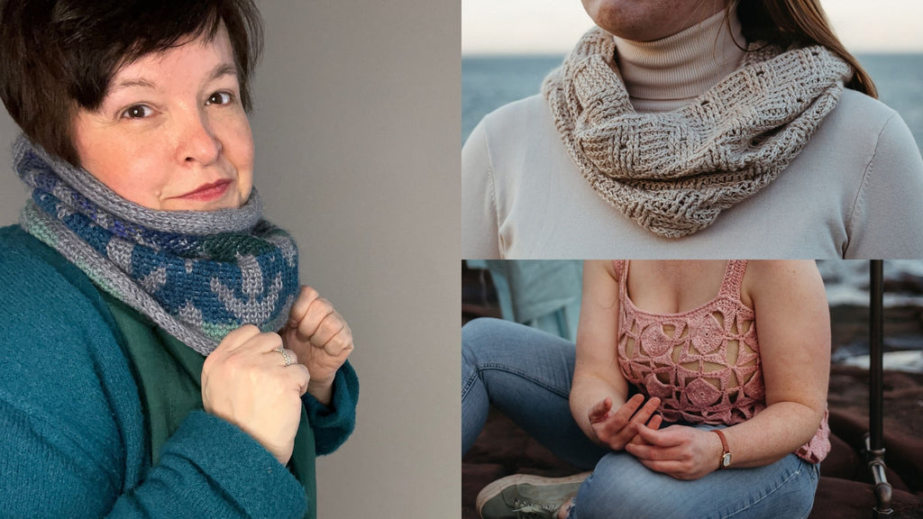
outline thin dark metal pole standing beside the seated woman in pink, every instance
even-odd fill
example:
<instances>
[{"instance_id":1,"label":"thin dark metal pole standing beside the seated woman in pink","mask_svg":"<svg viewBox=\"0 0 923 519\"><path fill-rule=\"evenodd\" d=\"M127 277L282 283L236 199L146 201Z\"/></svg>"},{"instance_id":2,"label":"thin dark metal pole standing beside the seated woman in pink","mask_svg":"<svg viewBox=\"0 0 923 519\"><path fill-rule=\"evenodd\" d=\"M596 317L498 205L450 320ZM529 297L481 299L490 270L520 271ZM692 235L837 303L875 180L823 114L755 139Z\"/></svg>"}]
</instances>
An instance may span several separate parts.
<instances>
[{"instance_id":1,"label":"thin dark metal pole standing beside the seated woman in pink","mask_svg":"<svg viewBox=\"0 0 923 519\"><path fill-rule=\"evenodd\" d=\"M882 430L882 358L884 338L884 284L881 259L872 259L869 265L869 433L865 435L866 461L875 481L876 506L872 517L887 517L891 508L891 484L884 474L884 445Z\"/></svg>"}]
</instances>

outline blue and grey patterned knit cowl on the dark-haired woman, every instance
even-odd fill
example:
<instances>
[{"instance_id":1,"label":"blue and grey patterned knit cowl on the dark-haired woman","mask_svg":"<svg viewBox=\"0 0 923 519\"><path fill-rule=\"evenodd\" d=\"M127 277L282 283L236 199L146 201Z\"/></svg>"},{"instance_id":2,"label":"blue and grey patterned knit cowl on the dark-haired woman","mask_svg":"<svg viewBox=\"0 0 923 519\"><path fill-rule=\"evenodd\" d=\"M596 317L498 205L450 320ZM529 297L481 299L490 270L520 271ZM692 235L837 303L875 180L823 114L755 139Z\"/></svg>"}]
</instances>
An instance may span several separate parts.
<instances>
[{"instance_id":1,"label":"blue and grey patterned knit cowl on the dark-haired woman","mask_svg":"<svg viewBox=\"0 0 923 519\"><path fill-rule=\"evenodd\" d=\"M288 319L297 247L262 220L256 190L240 209L154 211L25 137L13 160L32 188L22 228L198 353L245 324L278 332Z\"/></svg>"}]
</instances>

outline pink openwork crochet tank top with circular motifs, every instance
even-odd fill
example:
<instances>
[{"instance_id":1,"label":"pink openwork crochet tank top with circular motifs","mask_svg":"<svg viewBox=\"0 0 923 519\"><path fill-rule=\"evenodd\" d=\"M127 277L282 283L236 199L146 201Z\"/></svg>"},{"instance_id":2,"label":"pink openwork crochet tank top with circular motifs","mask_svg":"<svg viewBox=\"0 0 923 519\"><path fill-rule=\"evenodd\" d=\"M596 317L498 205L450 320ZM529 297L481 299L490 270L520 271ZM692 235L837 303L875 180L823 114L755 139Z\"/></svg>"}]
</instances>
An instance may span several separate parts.
<instances>
[{"instance_id":1,"label":"pink openwork crochet tank top with circular motifs","mask_svg":"<svg viewBox=\"0 0 923 519\"><path fill-rule=\"evenodd\" d=\"M756 316L740 301L746 260L728 261L718 296L698 308L647 312L628 296L629 261L618 277L618 366L629 383L661 400L665 421L732 426L766 407ZM828 413L797 456L820 463L830 453Z\"/></svg>"}]
</instances>

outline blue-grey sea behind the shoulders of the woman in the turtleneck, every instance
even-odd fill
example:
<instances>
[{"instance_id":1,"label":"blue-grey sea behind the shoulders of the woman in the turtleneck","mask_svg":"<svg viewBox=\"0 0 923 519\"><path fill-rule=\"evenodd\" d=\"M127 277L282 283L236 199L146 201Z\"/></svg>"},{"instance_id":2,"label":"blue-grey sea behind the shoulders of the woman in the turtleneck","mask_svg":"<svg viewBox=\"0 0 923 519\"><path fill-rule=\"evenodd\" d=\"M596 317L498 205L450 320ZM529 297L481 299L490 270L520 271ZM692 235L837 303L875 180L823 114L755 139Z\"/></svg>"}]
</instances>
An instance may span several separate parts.
<instances>
[{"instance_id":1,"label":"blue-grey sea behind the shoulders of the woman in the turtleneck","mask_svg":"<svg viewBox=\"0 0 923 519\"><path fill-rule=\"evenodd\" d=\"M923 54L858 54L879 99L904 118L923 143ZM462 140L482 117L541 91L542 79L564 55L462 57Z\"/></svg>"}]
</instances>

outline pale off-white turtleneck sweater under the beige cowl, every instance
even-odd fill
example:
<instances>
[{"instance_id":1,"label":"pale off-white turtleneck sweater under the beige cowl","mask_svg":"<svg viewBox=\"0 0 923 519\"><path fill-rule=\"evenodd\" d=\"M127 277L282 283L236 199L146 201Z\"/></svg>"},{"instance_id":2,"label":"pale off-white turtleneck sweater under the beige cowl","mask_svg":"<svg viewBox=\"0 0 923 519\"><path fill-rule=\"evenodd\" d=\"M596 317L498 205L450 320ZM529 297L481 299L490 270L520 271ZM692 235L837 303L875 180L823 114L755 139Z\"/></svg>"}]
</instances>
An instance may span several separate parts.
<instances>
[{"instance_id":1,"label":"pale off-white turtleneck sweater under the beige cowl","mask_svg":"<svg viewBox=\"0 0 923 519\"><path fill-rule=\"evenodd\" d=\"M698 48L714 59L714 30L723 24L713 22L702 22L706 30L677 33L654 49L647 43L642 52L630 48L637 42L617 39L619 54L635 58L622 72L636 109L675 109L694 97L696 92L670 95L683 82L669 85L676 87L672 90L652 89L657 86L652 81L664 86L677 74L664 74L651 60L663 61L664 54L679 49L688 54L695 41L709 42ZM698 32L690 36L690 30ZM684 59L689 63L694 56ZM652 64L648 71L639 68L645 60ZM702 69L703 63L695 66ZM699 83L701 89L735 64L721 65L713 67L711 80ZM648 95L636 99L641 79ZM923 159L900 115L847 89L768 187L704 230L663 238L593 191L564 148L545 99L533 96L486 115L474 128L462 149L462 211L466 259L918 259Z\"/></svg>"}]
</instances>

